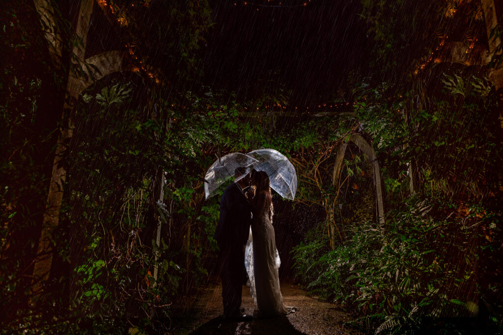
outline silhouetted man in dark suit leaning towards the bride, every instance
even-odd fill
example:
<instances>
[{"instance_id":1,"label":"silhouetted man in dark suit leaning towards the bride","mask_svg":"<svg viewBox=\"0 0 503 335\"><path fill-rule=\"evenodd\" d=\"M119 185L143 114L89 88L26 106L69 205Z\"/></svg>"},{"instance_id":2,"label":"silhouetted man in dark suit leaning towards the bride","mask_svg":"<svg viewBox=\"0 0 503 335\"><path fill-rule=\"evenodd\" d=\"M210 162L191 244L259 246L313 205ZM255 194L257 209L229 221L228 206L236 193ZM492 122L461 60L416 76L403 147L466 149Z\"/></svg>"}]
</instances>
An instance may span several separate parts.
<instances>
[{"instance_id":1,"label":"silhouetted man in dark suit leaning towards the bride","mask_svg":"<svg viewBox=\"0 0 503 335\"><path fill-rule=\"evenodd\" d=\"M244 167L234 171L237 179L246 173ZM218 255L222 278L223 315L226 318L248 318L241 315L241 291L243 283L244 246L248 239L251 224L251 205L247 200L253 196L245 189L250 184L247 174L239 181L229 185L220 199L220 219L215 230L220 253Z\"/></svg>"}]
</instances>

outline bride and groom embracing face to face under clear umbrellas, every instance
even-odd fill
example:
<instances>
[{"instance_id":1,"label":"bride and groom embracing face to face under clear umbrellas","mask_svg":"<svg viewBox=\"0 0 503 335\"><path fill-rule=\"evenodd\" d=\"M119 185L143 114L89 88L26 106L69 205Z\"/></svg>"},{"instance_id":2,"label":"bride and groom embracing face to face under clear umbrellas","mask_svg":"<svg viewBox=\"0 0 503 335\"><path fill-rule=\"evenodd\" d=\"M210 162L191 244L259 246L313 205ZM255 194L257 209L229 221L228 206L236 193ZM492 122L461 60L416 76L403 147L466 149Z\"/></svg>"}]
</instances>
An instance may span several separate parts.
<instances>
[{"instance_id":1,"label":"bride and groom embracing face to face under clear umbrellas","mask_svg":"<svg viewBox=\"0 0 503 335\"><path fill-rule=\"evenodd\" d=\"M253 235L253 266L247 270L251 271L248 274L259 315L286 315L297 309L285 306L281 295L269 177L263 171L253 170L250 174L246 174L243 167L237 168L235 178L244 177L228 186L220 200L220 219L215 240L220 249L222 301L226 318L250 318L249 315L243 315L243 309L240 309L244 253L250 227ZM249 187L250 183L255 186L255 192Z\"/></svg>"}]
</instances>

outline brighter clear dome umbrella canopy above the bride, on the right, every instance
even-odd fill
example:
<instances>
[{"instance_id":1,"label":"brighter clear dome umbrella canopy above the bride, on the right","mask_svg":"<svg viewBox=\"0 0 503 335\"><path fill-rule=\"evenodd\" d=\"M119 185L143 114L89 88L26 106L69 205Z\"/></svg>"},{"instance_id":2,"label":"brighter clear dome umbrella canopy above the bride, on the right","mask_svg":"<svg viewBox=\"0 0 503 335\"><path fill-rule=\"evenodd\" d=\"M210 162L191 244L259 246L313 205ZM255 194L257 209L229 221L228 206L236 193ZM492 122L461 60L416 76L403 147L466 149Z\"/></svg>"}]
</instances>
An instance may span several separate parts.
<instances>
[{"instance_id":1,"label":"brighter clear dome umbrella canopy above the bride, on the right","mask_svg":"<svg viewBox=\"0 0 503 335\"><path fill-rule=\"evenodd\" d=\"M284 198L293 200L297 191L297 174L293 164L279 151L258 149L246 155L255 158L257 171L264 171L269 176L271 188Z\"/></svg>"}]
</instances>

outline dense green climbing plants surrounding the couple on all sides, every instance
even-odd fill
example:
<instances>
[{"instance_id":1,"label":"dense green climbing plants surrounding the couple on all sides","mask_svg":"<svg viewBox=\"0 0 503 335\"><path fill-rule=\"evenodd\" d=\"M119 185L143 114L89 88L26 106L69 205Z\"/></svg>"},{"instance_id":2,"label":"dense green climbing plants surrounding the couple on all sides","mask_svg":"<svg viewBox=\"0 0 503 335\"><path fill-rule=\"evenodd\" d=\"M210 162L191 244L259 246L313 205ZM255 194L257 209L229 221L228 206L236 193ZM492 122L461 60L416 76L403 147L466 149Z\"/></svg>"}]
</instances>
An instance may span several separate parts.
<instances>
[{"instance_id":1,"label":"dense green climbing plants surrounding the couple on all sides","mask_svg":"<svg viewBox=\"0 0 503 335\"><path fill-rule=\"evenodd\" d=\"M283 85L239 101L203 85L198 50L212 26L204 1L111 1L114 11L104 13L118 20L113 38L135 69L90 85L63 113L78 43L64 7L56 11L58 63L33 4L8 4L0 26L0 327L169 332L172 304L216 275L219 206L218 196L204 199L206 169L227 152L270 147L298 174L296 200L285 206L302 203L324 218L292 252L299 282L341 304L366 332L501 331L499 92L487 66L432 61L447 35L485 33L481 10L474 1L429 6L431 16L413 2L362 4L374 39L370 72L355 73L354 86L327 102L344 107L317 114L286 109ZM462 31L465 20L476 24ZM34 292L54 151L70 124L53 261ZM356 144L332 183L352 134L376 153L384 224L374 162Z\"/></svg>"}]
</instances>

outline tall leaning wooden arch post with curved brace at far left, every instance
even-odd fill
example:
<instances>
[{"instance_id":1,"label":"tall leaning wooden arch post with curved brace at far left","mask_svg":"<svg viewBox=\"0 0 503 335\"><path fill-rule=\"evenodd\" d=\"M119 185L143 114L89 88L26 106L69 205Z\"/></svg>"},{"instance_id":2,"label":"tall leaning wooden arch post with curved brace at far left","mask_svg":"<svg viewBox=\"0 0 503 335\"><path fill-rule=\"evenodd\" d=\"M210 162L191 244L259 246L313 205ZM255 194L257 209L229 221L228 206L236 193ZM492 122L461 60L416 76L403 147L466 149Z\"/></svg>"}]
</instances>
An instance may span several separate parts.
<instances>
[{"instance_id":1,"label":"tall leaning wooden arch post with curved brace at far left","mask_svg":"<svg viewBox=\"0 0 503 335\"><path fill-rule=\"evenodd\" d=\"M35 7L40 14L41 24L46 31L49 51L54 59L61 62L61 37L57 34L54 8L46 0L34 0ZM54 161L52 165L51 180L47 195L46 210L43 215L42 231L37 248L37 257L34 262L32 292L40 292L41 283L49 277L52 265L52 231L59 224L59 211L63 202L63 188L66 179L66 170L62 164L62 157L73 135L73 125L69 115L80 92L104 76L123 70L134 70L125 62L122 51L109 51L84 59L86 54L87 36L91 14L93 13L94 0L81 0L78 14L70 70L66 84L66 94L63 103L63 125L59 134Z\"/></svg>"}]
</instances>

